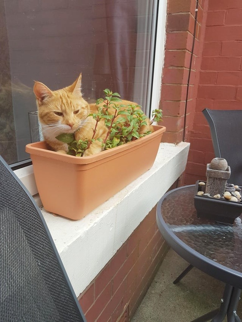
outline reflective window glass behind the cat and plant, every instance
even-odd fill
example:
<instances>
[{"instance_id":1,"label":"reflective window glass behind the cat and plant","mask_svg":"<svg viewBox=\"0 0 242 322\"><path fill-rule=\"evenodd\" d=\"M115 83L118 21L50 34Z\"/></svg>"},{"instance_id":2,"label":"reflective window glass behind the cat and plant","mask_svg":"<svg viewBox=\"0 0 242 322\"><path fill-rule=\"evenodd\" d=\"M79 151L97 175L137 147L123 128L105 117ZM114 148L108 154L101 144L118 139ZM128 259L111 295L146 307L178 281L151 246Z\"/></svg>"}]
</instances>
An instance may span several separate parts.
<instances>
[{"instance_id":1,"label":"reflective window glass behind the cat and plant","mask_svg":"<svg viewBox=\"0 0 242 322\"><path fill-rule=\"evenodd\" d=\"M156 6L156 0L0 1L0 153L9 164L29 158L34 80L57 90L82 72L89 102L109 88L149 114Z\"/></svg>"}]
</instances>

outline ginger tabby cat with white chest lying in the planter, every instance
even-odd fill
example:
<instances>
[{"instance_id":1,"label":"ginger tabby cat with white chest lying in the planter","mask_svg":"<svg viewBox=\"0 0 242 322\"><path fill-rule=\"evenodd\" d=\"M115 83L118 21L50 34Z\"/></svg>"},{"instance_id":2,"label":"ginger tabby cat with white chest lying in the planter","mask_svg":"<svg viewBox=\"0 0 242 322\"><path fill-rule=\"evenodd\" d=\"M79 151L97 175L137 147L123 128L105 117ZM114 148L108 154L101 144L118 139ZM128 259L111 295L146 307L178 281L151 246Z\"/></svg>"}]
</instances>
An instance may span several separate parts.
<instances>
[{"instance_id":1,"label":"ginger tabby cat with white chest lying in the planter","mask_svg":"<svg viewBox=\"0 0 242 322\"><path fill-rule=\"evenodd\" d=\"M43 137L46 143L56 152L67 153L68 145L57 140L55 137L62 133L75 133L75 139L84 140L92 138L93 128L96 121L90 113L97 111L96 104L88 104L81 93L82 74L68 87L52 91L43 83L35 81L34 94L37 99L38 116L42 126ZM104 104L104 103L102 103ZM102 106L99 104L99 106ZM118 105L129 105L136 103L122 100ZM125 109L125 108L122 108ZM113 110L113 111L112 111ZM114 114L114 109L109 109L109 114ZM150 119L146 119L147 126L140 128L139 134L152 131ZM98 123L94 139L106 137L108 132L104 120ZM102 151L102 143L95 140L90 147L85 150L83 156L90 156Z\"/></svg>"}]
</instances>

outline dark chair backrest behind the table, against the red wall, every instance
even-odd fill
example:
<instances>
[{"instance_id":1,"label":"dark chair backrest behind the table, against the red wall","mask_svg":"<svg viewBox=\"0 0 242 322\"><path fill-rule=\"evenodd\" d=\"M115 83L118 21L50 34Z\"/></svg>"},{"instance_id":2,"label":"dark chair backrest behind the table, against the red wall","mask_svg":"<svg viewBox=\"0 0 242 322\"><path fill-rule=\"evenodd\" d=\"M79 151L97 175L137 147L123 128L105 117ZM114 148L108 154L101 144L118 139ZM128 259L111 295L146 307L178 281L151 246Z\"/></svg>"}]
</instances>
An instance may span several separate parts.
<instances>
[{"instance_id":1,"label":"dark chair backrest behind the table, against the red wall","mask_svg":"<svg viewBox=\"0 0 242 322\"><path fill-rule=\"evenodd\" d=\"M204 109L210 126L215 156L227 160L229 183L242 185L242 110Z\"/></svg>"}]
</instances>

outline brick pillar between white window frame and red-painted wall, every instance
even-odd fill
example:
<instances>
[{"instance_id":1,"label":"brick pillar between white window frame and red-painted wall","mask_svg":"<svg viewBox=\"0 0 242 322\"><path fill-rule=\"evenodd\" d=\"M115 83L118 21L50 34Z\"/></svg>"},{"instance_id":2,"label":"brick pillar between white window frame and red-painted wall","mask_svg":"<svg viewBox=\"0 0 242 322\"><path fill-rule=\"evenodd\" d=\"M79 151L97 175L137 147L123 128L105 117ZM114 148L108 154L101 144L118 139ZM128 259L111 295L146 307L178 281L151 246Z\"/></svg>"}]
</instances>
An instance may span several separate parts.
<instances>
[{"instance_id":1,"label":"brick pillar between white window frame and red-painted wall","mask_svg":"<svg viewBox=\"0 0 242 322\"><path fill-rule=\"evenodd\" d=\"M187 141L191 131L197 93L196 72L200 69L198 53L201 47L204 1L198 1L195 43L190 66L196 5L196 0L168 0L160 100L160 109L163 110L162 124L167 128L163 134L163 142L179 143L183 139Z\"/></svg>"}]
</instances>

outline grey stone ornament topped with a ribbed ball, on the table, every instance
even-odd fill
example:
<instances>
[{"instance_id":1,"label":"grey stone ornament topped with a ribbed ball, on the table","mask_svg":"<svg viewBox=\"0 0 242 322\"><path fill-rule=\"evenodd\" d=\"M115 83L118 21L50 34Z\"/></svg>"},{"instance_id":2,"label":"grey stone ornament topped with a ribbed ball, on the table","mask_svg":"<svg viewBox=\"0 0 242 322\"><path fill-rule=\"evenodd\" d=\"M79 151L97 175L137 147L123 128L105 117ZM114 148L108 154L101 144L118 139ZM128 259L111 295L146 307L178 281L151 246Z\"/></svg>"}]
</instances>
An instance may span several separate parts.
<instances>
[{"instance_id":1,"label":"grey stone ornament topped with a ribbed ball, on the table","mask_svg":"<svg viewBox=\"0 0 242 322\"><path fill-rule=\"evenodd\" d=\"M227 179L231 175L230 166L224 158L214 158L207 164L207 183L205 192L214 196L215 194L224 194Z\"/></svg>"}]
</instances>

